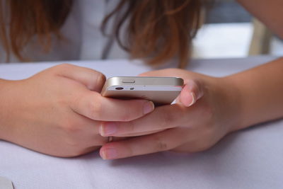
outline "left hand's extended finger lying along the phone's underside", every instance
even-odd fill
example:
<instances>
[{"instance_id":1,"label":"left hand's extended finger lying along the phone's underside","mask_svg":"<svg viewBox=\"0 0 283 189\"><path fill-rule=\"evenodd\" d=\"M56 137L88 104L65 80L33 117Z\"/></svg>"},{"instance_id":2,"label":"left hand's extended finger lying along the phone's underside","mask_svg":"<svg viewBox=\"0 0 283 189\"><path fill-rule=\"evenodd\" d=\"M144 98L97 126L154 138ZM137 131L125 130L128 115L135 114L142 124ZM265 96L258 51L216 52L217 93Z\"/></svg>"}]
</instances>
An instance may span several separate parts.
<instances>
[{"instance_id":1,"label":"left hand's extended finger lying along the phone's underside","mask_svg":"<svg viewBox=\"0 0 283 189\"><path fill-rule=\"evenodd\" d=\"M70 105L76 113L103 121L130 121L141 118L154 110L154 103L146 100L119 100L105 98L93 91L86 91Z\"/></svg>"}]
</instances>

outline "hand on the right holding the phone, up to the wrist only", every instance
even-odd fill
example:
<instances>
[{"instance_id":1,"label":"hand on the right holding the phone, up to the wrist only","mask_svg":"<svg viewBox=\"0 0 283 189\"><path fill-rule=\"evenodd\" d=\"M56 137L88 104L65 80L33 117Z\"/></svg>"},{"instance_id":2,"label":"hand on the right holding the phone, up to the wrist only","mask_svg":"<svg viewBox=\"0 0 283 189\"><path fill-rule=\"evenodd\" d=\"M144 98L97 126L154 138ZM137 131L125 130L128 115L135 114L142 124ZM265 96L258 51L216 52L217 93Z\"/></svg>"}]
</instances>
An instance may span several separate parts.
<instances>
[{"instance_id":1,"label":"hand on the right holding the phone, up to the wrist only","mask_svg":"<svg viewBox=\"0 0 283 189\"><path fill-rule=\"evenodd\" d=\"M119 159L156 151L204 151L238 124L238 91L228 79L182 69L151 71L144 76L178 76L185 86L177 103L155 108L129 122L104 122L102 136L132 137L100 149L103 159Z\"/></svg>"}]
</instances>

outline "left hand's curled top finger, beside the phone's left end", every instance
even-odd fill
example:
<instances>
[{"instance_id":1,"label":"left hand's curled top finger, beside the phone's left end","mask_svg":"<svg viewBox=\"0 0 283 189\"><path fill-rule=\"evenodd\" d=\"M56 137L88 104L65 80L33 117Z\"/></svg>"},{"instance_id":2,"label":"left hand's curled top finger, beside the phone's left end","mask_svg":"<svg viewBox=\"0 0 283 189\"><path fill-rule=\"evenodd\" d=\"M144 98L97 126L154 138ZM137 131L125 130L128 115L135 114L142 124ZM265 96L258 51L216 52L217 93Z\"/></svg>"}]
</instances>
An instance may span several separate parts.
<instances>
[{"instance_id":1,"label":"left hand's curled top finger, beside the phone's left end","mask_svg":"<svg viewBox=\"0 0 283 189\"><path fill-rule=\"evenodd\" d=\"M100 92L105 83L105 76L99 71L86 67L78 67L72 64L58 65L57 74L79 81L91 91Z\"/></svg>"}]
</instances>

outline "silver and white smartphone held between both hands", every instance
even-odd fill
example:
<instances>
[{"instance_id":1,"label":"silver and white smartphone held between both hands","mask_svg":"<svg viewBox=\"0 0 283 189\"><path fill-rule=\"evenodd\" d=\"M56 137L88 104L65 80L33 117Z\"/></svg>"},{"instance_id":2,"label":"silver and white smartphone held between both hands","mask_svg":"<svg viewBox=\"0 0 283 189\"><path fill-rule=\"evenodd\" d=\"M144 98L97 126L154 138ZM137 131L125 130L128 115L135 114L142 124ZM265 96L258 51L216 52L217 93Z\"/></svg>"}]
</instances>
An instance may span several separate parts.
<instances>
[{"instance_id":1,"label":"silver and white smartphone held between both hands","mask_svg":"<svg viewBox=\"0 0 283 189\"><path fill-rule=\"evenodd\" d=\"M178 77L115 76L107 79L101 95L120 99L146 99L155 105L171 104L184 81Z\"/></svg>"}]
</instances>

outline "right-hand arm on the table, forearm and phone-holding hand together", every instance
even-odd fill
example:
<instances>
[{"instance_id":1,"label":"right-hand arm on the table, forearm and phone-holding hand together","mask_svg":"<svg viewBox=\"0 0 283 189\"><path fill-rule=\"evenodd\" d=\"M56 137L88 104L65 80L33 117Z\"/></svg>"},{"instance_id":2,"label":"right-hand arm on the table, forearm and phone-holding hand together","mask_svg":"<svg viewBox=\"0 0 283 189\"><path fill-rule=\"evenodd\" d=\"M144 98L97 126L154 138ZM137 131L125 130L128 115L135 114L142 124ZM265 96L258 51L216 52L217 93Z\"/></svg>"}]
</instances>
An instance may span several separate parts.
<instances>
[{"instance_id":1,"label":"right-hand arm on the table, forearm and phone-holding hand together","mask_svg":"<svg viewBox=\"0 0 283 189\"><path fill-rule=\"evenodd\" d=\"M144 75L183 78L185 86L178 103L157 107L130 122L100 125L100 131L115 127L111 133L115 137L137 136L105 144L100 155L118 159L166 150L204 151L229 132L282 118L282 73L283 59L221 78L182 69L147 72Z\"/></svg>"}]
</instances>

